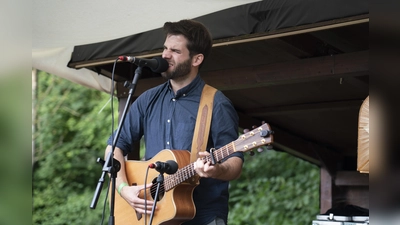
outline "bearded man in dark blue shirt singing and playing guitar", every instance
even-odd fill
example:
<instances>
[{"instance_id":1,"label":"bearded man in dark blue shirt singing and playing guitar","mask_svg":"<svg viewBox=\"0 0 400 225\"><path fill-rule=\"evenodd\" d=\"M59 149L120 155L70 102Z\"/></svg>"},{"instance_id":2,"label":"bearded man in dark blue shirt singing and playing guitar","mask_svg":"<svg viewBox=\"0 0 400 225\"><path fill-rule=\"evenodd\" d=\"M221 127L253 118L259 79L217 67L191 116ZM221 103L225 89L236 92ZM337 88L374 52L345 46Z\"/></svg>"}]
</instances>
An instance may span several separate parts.
<instances>
[{"instance_id":1,"label":"bearded man in dark blue shirt singing and playing guitar","mask_svg":"<svg viewBox=\"0 0 400 225\"><path fill-rule=\"evenodd\" d=\"M191 149L200 96L205 85L199 76L199 68L212 47L210 33L199 22L167 22L164 30L166 39L162 57L168 62L169 68L161 75L168 81L147 90L132 104L114 151L114 158L122 164L116 179L117 190L142 214L145 211L151 213L153 201L147 201L145 208L145 200L138 197L144 187L127 185L124 155L128 154L132 143L142 136L146 145L146 160L163 149ZM229 99L217 91L207 150L211 147L218 149L237 137L237 113ZM111 151L111 144L110 138L106 156ZM215 165L201 160L208 154L199 153L199 159L194 164L196 173L201 177L193 193L196 215L185 225L227 223L228 181L240 176L243 154L234 153Z\"/></svg>"}]
</instances>

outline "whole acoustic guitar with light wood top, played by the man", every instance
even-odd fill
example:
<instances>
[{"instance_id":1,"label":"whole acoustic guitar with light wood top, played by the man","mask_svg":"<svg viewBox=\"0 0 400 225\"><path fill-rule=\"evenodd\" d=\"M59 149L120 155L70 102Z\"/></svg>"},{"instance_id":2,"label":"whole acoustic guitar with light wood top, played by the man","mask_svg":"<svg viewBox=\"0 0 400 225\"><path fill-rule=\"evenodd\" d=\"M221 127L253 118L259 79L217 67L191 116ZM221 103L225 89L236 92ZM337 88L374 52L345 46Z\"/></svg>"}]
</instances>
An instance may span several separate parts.
<instances>
[{"instance_id":1,"label":"whole acoustic guitar with light wood top, played by the man","mask_svg":"<svg viewBox=\"0 0 400 225\"><path fill-rule=\"evenodd\" d=\"M234 152L247 152L254 148L269 145L273 142L272 131L267 123L241 135L237 140L219 148L213 149L212 154L204 160L216 163ZM154 213L153 225L181 224L195 216L196 209L192 199L194 188L199 184L198 175L194 170L194 163L190 163L190 152L187 150L162 150L148 161L127 160L125 170L129 185L144 185L146 173L153 179L151 188L139 194L141 198L154 200L157 188L156 179L159 173L148 170L151 163L157 161L174 160L178 163L176 173L164 175L164 182L160 186L157 198L157 210ZM149 223L150 215L137 214L136 211L118 194L115 195L115 224L116 225L144 225ZM147 225L147 224L146 224Z\"/></svg>"}]
</instances>

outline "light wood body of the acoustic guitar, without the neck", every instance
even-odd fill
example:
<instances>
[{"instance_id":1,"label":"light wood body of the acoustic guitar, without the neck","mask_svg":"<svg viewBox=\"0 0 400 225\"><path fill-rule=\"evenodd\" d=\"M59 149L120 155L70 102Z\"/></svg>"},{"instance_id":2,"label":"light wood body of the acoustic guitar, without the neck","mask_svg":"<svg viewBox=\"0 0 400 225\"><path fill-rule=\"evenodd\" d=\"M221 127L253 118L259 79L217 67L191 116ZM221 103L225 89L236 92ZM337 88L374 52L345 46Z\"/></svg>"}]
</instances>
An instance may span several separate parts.
<instances>
[{"instance_id":1,"label":"light wood body of the acoustic guitar, without the neck","mask_svg":"<svg viewBox=\"0 0 400 225\"><path fill-rule=\"evenodd\" d=\"M190 164L190 152L186 150L162 150L151 160L136 161L127 160L125 170L129 185L144 185L155 180L159 172L149 169L147 181L146 170L148 165L157 161L174 160L178 163L179 169ZM164 179L170 175L164 174ZM156 184L153 185L154 187ZM157 210L153 217L153 225L176 225L181 224L194 217L196 209L192 199L193 190L196 184L184 181L171 190L160 192L161 197L157 201ZM190 197L189 197L190 196ZM144 198L144 191L140 193ZM153 200L150 188L147 189L146 199ZM150 215L147 215L147 223ZM119 194L115 195L115 224L116 225L143 225L145 215L137 215L136 211Z\"/></svg>"}]
</instances>

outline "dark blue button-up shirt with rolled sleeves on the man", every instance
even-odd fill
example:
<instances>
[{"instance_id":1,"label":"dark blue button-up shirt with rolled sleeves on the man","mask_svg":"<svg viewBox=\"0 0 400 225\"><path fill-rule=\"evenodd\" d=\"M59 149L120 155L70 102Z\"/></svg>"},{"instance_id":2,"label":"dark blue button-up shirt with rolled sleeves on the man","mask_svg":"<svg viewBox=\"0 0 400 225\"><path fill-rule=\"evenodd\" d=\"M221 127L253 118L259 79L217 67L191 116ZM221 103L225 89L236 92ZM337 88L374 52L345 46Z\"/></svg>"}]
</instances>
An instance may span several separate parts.
<instances>
[{"instance_id":1,"label":"dark blue button-up shirt with rolled sleeves on the man","mask_svg":"<svg viewBox=\"0 0 400 225\"><path fill-rule=\"evenodd\" d=\"M191 149L200 96L205 82L198 75L188 86L174 94L169 82L147 90L133 102L120 138L116 144L124 155L132 143L144 137L145 159L163 149ZM214 97L208 147L216 149L238 137L238 115L230 100L217 91ZM111 138L108 144L112 144ZM241 152L231 156L240 157ZM230 157L231 157L230 156ZM196 216L185 224L207 224L216 216L227 220L228 182L211 178L200 179L193 193Z\"/></svg>"}]
</instances>

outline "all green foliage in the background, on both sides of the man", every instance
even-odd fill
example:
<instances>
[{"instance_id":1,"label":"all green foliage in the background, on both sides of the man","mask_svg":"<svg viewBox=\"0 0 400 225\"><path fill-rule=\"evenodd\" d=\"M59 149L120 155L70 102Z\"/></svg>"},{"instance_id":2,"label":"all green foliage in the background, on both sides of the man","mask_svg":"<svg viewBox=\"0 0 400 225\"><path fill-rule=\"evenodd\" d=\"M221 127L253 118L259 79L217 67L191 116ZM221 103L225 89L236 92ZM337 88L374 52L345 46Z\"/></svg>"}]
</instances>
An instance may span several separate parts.
<instances>
[{"instance_id":1,"label":"all green foliage in the background, on both sides of the man","mask_svg":"<svg viewBox=\"0 0 400 225\"><path fill-rule=\"evenodd\" d=\"M111 108L104 107L110 97L38 75L32 224L100 224L108 181L96 209L89 206L101 175L96 159L111 134ZM287 153L246 156L230 194L230 225L310 224L319 212L319 169Z\"/></svg>"}]
</instances>

